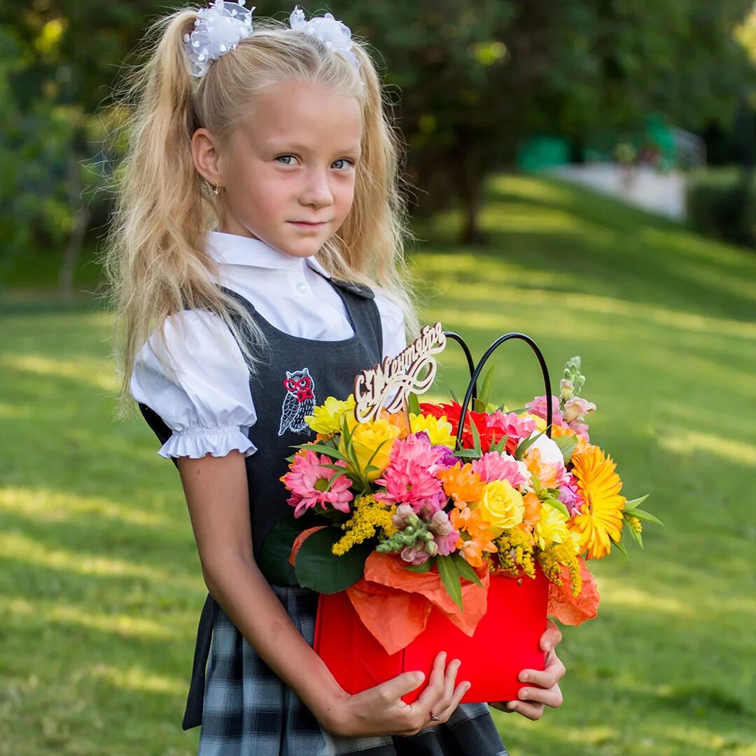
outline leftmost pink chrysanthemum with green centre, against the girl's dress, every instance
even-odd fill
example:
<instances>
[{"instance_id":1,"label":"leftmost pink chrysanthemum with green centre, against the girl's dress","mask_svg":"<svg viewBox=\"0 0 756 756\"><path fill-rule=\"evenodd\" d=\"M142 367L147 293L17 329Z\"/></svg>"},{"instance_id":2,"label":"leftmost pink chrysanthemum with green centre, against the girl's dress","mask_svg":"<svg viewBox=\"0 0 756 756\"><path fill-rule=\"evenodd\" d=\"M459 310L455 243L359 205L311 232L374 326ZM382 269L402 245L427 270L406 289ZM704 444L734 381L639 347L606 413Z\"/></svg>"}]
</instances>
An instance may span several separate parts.
<instances>
[{"instance_id":1,"label":"leftmost pink chrysanthemum with green centre, against the girl's dress","mask_svg":"<svg viewBox=\"0 0 756 756\"><path fill-rule=\"evenodd\" d=\"M333 478L336 472L325 466L332 464L346 468L346 463L340 460L334 463L325 454L318 457L308 449L303 449L294 457L289 472L281 480L292 492L288 501L294 507L295 517L301 517L305 510L317 504L323 509L330 504L339 512L349 513L349 502L354 498L352 491L349 491L352 482L345 475Z\"/></svg>"}]
</instances>

